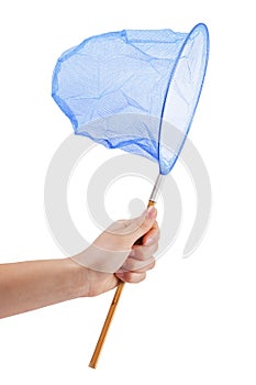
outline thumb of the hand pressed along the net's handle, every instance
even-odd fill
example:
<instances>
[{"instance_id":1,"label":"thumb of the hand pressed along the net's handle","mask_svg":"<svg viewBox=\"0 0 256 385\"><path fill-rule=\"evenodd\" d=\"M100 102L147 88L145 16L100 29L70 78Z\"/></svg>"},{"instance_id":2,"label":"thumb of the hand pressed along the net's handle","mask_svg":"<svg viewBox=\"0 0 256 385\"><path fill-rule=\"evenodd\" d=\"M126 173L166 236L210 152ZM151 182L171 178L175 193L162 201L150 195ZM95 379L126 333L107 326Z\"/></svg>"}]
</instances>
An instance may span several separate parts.
<instances>
[{"instance_id":1,"label":"thumb of the hand pressed along the net's handle","mask_svg":"<svg viewBox=\"0 0 256 385\"><path fill-rule=\"evenodd\" d=\"M157 216L157 210L154 206L149 206L141 217L130 220L126 231L131 234L131 240L134 243L141 237L146 234L153 227Z\"/></svg>"}]
</instances>

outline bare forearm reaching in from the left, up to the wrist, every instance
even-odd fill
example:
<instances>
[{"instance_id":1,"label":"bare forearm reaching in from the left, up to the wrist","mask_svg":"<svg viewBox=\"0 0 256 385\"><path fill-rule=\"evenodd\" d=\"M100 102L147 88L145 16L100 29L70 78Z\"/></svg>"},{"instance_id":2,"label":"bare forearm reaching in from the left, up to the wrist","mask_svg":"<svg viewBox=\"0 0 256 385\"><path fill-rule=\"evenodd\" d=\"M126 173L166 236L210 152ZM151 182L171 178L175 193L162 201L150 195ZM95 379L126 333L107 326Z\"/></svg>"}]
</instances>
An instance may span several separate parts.
<instances>
[{"instance_id":1,"label":"bare forearm reaching in from the left, up to the wrist","mask_svg":"<svg viewBox=\"0 0 256 385\"><path fill-rule=\"evenodd\" d=\"M0 265L0 318L86 295L87 273L70 258Z\"/></svg>"}]
</instances>

